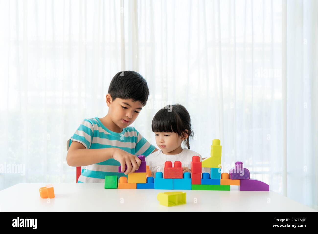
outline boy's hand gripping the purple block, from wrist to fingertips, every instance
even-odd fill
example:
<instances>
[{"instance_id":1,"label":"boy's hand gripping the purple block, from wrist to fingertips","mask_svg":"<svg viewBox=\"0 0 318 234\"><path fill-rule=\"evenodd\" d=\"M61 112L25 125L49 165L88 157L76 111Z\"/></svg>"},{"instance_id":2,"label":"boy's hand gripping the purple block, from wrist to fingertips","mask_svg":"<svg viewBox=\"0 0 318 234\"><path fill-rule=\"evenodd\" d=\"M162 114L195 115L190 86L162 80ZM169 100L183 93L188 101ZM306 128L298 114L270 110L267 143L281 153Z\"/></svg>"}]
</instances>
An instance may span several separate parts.
<instances>
[{"instance_id":1,"label":"boy's hand gripping the purple block, from wrist to fingertips","mask_svg":"<svg viewBox=\"0 0 318 234\"><path fill-rule=\"evenodd\" d=\"M135 155L129 154L122 149L115 149L113 154L113 159L118 161L121 165L121 172L125 171L125 164L127 165L127 170L125 171L125 175L128 173L133 173L135 170L139 169L141 164L141 160Z\"/></svg>"}]
</instances>

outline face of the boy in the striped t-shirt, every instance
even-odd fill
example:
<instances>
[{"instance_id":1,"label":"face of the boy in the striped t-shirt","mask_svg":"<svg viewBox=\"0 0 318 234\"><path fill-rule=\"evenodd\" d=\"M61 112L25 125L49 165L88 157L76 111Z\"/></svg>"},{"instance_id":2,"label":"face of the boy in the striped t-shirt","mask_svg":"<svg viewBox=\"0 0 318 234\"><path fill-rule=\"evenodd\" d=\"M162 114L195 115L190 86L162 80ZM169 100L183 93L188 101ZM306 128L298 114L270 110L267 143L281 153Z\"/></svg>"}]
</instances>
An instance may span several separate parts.
<instances>
[{"instance_id":1,"label":"face of the boy in the striped t-shirt","mask_svg":"<svg viewBox=\"0 0 318 234\"><path fill-rule=\"evenodd\" d=\"M107 96L106 103L109 107L108 114L111 120L120 128L125 128L132 124L142 109L142 103L132 99L116 98L112 100L110 95L109 97Z\"/></svg>"}]
</instances>

